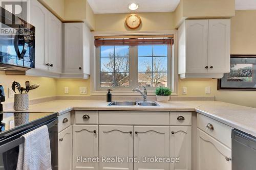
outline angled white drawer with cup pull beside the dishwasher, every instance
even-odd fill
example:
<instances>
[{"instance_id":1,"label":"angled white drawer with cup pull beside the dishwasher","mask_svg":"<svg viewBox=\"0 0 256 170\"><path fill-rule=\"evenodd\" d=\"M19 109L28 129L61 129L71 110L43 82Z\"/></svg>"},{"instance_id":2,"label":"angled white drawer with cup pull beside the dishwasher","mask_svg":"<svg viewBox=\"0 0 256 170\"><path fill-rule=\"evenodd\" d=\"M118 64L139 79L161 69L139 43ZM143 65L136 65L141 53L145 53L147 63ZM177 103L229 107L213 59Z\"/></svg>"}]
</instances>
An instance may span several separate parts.
<instances>
[{"instance_id":1,"label":"angled white drawer with cup pull beside the dishwasher","mask_svg":"<svg viewBox=\"0 0 256 170\"><path fill-rule=\"evenodd\" d=\"M197 114L197 127L231 148L232 127L199 113Z\"/></svg>"}]
</instances>

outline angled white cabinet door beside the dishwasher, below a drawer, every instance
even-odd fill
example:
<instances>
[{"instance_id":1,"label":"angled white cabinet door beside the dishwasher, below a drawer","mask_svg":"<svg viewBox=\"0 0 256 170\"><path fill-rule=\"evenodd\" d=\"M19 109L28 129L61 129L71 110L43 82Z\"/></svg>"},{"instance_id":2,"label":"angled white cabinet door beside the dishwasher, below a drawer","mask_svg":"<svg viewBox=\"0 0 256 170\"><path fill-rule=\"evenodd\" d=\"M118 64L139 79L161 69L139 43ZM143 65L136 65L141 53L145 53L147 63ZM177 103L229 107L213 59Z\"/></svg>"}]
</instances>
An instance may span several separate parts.
<instances>
[{"instance_id":1,"label":"angled white cabinet door beside the dishwasher, below a drawer","mask_svg":"<svg viewBox=\"0 0 256 170\"><path fill-rule=\"evenodd\" d=\"M226 136L230 137L230 136ZM197 169L198 170L231 170L231 150L218 140L200 129L197 130Z\"/></svg>"}]
</instances>

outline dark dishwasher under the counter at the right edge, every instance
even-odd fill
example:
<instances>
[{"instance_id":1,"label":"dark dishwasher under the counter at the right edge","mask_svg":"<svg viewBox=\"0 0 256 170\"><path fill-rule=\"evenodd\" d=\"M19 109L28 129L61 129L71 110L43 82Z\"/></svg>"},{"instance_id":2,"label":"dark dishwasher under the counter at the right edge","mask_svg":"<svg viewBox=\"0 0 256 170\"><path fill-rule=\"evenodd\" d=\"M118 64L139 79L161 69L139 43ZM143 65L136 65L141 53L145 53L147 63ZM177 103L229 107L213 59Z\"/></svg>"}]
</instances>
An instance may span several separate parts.
<instances>
[{"instance_id":1,"label":"dark dishwasher under the counter at the right edge","mask_svg":"<svg viewBox=\"0 0 256 170\"><path fill-rule=\"evenodd\" d=\"M256 169L256 137L232 130L232 170Z\"/></svg>"}]
</instances>

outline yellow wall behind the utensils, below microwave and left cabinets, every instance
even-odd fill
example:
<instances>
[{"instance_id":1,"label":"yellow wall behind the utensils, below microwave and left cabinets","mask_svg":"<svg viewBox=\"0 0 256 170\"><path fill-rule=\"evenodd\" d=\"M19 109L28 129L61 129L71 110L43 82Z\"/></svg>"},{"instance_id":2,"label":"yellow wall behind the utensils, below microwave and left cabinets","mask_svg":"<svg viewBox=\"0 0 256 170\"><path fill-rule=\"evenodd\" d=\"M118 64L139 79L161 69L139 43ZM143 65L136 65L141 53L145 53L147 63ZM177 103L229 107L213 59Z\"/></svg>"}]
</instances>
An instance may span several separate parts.
<instances>
[{"instance_id":1,"label":"yellow wall behind the utensils, below microwave and left cabinets","mask_svg":"<svg viewBox=\"0 0 256 170\"><path fill-rule=\"evenodd\" d=\"M6 76L4 71L0 71L0 84L4 86L6 103L13 102L13 98L8 98L8 88L11 88L12 82L19 82L21 86L25 86L26 81L30 81L30 84L39 84L40 86L29 91L29 99L42 98L46 96L55 96L56 91L56 80L53 78L38 78L30 76ZM17 90L16 90L17 91Z\"/></svg>"}]
</instances>

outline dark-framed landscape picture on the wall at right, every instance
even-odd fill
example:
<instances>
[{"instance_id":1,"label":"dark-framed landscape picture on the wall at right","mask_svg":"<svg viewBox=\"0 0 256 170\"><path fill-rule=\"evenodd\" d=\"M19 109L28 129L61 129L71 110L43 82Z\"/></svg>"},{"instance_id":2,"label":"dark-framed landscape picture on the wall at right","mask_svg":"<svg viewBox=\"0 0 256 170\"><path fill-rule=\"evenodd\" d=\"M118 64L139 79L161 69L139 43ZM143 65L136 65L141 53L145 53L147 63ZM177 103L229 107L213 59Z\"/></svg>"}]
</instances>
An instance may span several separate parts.
<instances>
[{"instance_id":1,"label":"dark-framed landscape picture on the wall at right","mask_svg":"<svg viewBox=\"0 0 256 170\"><path fill-rule=\"evenodd\" d=\"M256 55L231 55L230 72L218 79L218 90L256 90Z\"/></svg>"}]
</instances>

